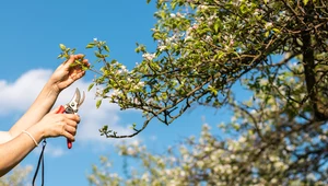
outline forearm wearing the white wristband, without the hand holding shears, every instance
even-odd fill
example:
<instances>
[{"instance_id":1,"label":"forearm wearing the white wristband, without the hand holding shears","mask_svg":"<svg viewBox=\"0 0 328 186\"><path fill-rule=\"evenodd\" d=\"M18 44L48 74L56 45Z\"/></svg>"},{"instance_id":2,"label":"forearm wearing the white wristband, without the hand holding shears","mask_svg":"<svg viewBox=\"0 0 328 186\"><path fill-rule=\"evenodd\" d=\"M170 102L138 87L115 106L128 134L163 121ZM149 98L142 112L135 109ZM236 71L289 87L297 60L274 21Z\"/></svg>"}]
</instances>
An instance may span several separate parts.
<instances>
[{"instance_id":1,"label":"forearm wearing the white wristband, without the hand holding shears","mask_svg":"<svg viewBox=\"0 0 328 186\"><path fill-rule=\"evenodd\" d=\"M27 131L37 143L42 141L43 132L37 127L30 128ZM0 177L17 165L35 147L34 140L24 132L0 144Z\"/></svg>"}]
</instances>

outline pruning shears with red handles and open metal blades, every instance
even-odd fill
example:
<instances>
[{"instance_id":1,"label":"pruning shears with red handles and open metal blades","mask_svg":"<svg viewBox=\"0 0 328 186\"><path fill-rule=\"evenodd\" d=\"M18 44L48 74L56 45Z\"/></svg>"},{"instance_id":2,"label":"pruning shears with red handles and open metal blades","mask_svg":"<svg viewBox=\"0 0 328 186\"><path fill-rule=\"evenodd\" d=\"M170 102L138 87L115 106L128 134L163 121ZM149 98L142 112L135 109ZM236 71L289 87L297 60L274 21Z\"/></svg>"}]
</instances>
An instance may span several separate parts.
<instances>
[{"instance_id":1,"label":"pruning shears with red handles and open metal blades","mask_svg":"<svg viewBox=\"0 0 328 186\"><path fill-rule=\"evenodd\" d=\"M56 114L63 114L63 113L77 114L79 111L79 107L84 102L84 98L85 98L84 91L83 91L83 96L81 97L80 90L77 88L73 98L69 103L67 103L65 105L60 105L60 108ZM72 141L70 141L69 139L67 139L67 147L68 147L68 149L72 148Z\"/></svg>"}]
</instances>

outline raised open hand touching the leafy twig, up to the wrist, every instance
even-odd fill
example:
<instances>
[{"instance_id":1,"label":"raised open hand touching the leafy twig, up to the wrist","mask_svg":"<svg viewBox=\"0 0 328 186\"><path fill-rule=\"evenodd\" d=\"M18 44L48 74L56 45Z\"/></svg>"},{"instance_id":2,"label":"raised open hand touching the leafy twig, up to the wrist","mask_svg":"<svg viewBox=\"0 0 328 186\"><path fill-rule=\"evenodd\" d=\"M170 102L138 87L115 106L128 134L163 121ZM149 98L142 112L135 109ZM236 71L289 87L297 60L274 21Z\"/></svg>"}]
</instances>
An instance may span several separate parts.
<instances>
[{"instance_id":1,"label":"raised open hand touching the leafy twig, up to the wrist","mask_svg":"<svg viewBox=\"0 0 328 186\"><path fill-rule=\"evenodd\" d=\"M81 61L81 63L77 63ZM68 60L62 62L52 73L49 82L55 91L62 91L79 80L85 74L82 67L89 67L87 59L84 59L84 55L71 55Z\"/></svg>"}]
</instances>

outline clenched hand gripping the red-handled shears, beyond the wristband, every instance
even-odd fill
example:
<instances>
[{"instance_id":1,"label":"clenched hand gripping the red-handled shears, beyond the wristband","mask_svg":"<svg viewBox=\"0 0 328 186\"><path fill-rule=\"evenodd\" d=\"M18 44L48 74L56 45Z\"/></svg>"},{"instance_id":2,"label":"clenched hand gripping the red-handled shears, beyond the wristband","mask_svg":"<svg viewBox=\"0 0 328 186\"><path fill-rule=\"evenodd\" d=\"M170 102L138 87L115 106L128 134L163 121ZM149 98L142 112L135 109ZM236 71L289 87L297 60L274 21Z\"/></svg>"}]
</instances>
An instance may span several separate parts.
<instances>
[{"instance_id":1,"label":"clenched hand gripping the red-handled shears, beyond the wristband","mask_svg":"<svg viewBox=\"0 0 328 186\"><path fill-rule=\"evenodd\" d=\"M70 141L74 141L80 117L74 114L56 114L59 107L45 115L36 127L42 130L43 138L66 137Z\"/></svg>"}]
</instances>

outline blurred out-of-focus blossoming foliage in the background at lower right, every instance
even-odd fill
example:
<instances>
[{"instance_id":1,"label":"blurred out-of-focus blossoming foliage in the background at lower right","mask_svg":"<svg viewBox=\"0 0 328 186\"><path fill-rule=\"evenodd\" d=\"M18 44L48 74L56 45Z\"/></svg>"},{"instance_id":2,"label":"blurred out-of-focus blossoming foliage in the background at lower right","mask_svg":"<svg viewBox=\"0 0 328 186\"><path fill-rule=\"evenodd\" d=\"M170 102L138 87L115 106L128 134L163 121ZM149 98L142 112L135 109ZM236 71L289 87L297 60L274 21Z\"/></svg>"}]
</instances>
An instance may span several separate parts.
<instances>
[{"instance_id":1,"label":"blurred out-of-focus blossoming foliage in the background at lower right","mask_svg":"<svg viewBox=\"0 0 328 186\"><path fill-rule=\"evenodd\" d=\"M298 78L302 66L290 65L291 71L270 82L257 75L245 79L250 100L229 102L234 116L222 123L214 136L203 125L199 139L190 137L167 152L154 154L139 143L119 144L125 159L139 162L141 168L127 170L127 175L110 172L112 164L102 159L89 181L92 185L327 185L327 121L306 119L311 104L302 101L306 88ZM267 94L270 91L271 94ZM254 98L256 97L256 98ZM295 114L295 111L298 111ZM107 165L107 166L105 166Z\"/></svg>"}]
</instances>

